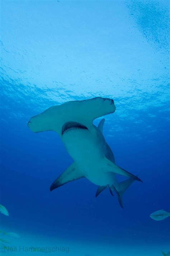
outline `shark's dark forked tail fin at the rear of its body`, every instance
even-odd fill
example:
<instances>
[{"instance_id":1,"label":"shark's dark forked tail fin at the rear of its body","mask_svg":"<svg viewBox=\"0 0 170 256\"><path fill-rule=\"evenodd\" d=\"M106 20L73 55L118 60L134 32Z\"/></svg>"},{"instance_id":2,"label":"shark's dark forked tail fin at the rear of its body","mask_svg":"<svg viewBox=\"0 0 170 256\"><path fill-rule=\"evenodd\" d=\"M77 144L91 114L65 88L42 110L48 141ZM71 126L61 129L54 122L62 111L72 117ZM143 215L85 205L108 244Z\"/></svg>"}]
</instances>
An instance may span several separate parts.
<instances>
[{"instance_id":1,"label":"shark's dark forked tail fin at the rear of its body","mask_svg":"<svg viewBox=\"0 0 170 256\"><path fill-rule=\"evenodd\" d=\"M119 183L119 189L117 190L114 185L112 185L110 188L114 190L118 196L118 201L120 206L123 208L123 201L122 201L122 195L123 193L128 189L128 187L134 182L135 180L133 178L129 178L127 180L124 180Z\"/></svg>"}]
</instances>

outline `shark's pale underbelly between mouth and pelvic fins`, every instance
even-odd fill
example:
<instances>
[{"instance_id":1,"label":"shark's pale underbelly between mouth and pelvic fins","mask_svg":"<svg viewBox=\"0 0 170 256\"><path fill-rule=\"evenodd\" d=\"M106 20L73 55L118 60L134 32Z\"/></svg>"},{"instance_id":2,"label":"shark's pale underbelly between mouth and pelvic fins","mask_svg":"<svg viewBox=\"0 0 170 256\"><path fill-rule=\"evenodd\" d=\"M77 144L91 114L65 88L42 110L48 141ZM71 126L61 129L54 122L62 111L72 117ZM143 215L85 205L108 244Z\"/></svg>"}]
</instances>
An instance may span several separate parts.
<instances>
[{"instance_id":1,"label":"shark's pale underbelly between mouth and pelvic fins","mask_svg":"<svg viewBox=\"0 0 170 256\"><path fill-rule=\"evenodd\" d=\"M110 185L112 173L107 173L104 158L105 140L95 129L93 134L87 130L69 131L63 135L68 153L74 159L84 176L99 186Z\"/></svg>"}]
</instances>

